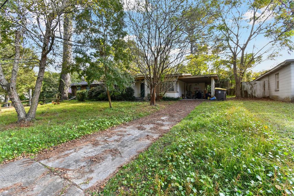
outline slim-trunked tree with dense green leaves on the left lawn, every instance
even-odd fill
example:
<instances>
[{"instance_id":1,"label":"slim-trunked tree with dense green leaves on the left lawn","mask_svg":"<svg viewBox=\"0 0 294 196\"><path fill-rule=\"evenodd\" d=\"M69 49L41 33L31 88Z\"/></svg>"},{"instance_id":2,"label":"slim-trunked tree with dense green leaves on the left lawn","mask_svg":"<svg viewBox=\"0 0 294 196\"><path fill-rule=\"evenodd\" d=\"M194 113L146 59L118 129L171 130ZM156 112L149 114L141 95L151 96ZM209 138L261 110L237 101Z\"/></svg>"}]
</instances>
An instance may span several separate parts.
<instances>
[{"instance_id":1,"label":"slim-trunked tree with dense green leaves on the left lawn","mask_svg":"<svg viewBox=\"0 0 294 196\"><path fill-rule=\"evenodd\" d=\"M86 47L77 47L76 68L88 82L102 81L106 88L109 107L111 93L123 92L133 83L126 70L129 52L124 37L124 11L119 0L101 0L99 6L83 11L77 17L80 42Z\"/></svg>"}]
</instances>

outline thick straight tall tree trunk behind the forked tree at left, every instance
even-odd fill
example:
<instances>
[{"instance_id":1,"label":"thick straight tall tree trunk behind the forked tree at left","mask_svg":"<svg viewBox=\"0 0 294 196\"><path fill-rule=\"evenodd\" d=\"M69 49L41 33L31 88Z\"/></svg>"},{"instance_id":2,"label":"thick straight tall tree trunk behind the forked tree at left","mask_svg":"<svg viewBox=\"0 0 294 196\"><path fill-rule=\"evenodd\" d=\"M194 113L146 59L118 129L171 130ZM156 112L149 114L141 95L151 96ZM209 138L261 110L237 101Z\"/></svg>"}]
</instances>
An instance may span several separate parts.
<instances>
[{"instance_id":1,"label":"thick straight tall tree trunk behind the forked tree at left","mask_svg":"<svg viewBox=\"0 0 294 196\"><path fill-rule=\"evenodd\" d=\"M73 29L72 19L70 14L64 16L64 43L63 43L63 55L62 55L62 68L59 80L59 93L61 95L60 100L69 99L69 88L71 85L70 64L72 61L71 55L71 32Z\"/></svg>"}]
</instances>

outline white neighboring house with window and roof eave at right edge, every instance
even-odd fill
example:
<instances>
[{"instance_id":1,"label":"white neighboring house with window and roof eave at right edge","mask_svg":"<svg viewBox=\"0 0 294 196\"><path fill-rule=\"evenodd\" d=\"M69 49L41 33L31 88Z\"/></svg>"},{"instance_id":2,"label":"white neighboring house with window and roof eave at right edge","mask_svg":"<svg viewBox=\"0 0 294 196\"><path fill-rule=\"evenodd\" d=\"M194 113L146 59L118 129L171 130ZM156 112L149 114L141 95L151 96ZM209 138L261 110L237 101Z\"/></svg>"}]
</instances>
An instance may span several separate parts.
<instances>
[{"instance_id":1,"label":"white neighboring house with window and roof eave at right edge","mask_svg":"<svg viewBox=\"0 0 294 196\"><path fill-rule=\"evenodd\" d=\"M253 81L265 81L271 99L294 102L294 59L285 60Z\"/></svg>"}]
</instances>

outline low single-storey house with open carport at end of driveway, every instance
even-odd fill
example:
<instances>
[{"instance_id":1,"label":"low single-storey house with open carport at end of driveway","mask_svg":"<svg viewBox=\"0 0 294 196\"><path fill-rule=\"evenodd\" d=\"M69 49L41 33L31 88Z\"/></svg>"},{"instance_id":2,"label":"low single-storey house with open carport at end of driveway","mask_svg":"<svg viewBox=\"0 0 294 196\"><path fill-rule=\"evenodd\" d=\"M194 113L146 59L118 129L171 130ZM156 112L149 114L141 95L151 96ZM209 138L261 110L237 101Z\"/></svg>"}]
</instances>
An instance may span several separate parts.
<instances>
[{"instance_id":1,"label":"low single-storey house with open carport at end of driveway","mask_svg":"<svg viewBox=\"0 0 294 196\"><path fill-rule=\"evenodd\" d=\"M196 75L192 74L177 74L174 77L173 85L168 89L165 96L168 97L185 97L189 94L194 95L195 92L207 92L207 86L214 89L215 80L218 79L217 74ZM143 76L136 76L133 84L135 97L148 97L150 89ZM211 96L214 96L214 91L211 91Z\"/></svg>"}]
</instances>

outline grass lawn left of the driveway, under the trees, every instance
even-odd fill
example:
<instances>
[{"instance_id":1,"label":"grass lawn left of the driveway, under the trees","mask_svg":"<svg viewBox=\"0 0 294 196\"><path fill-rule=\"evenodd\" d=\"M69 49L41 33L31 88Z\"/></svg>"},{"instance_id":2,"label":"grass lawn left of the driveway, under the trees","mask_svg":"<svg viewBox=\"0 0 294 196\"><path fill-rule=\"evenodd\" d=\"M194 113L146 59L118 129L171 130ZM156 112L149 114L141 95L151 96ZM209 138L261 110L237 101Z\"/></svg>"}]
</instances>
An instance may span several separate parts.
<instances>
[{"instance_id":1,"label":"grass lawn left of the driveway, under the trees","mask_svg":"<svg viewBox=\"0 0 294 196\"><path fill-rule=\"evenodd\" d=\"M36 120L22 125L15 123L14 110L0 112L0 163L146 116L168 103L113 102L112 109L108 102L46 104L38 107Z\"/></svg>"}]
</instances>

